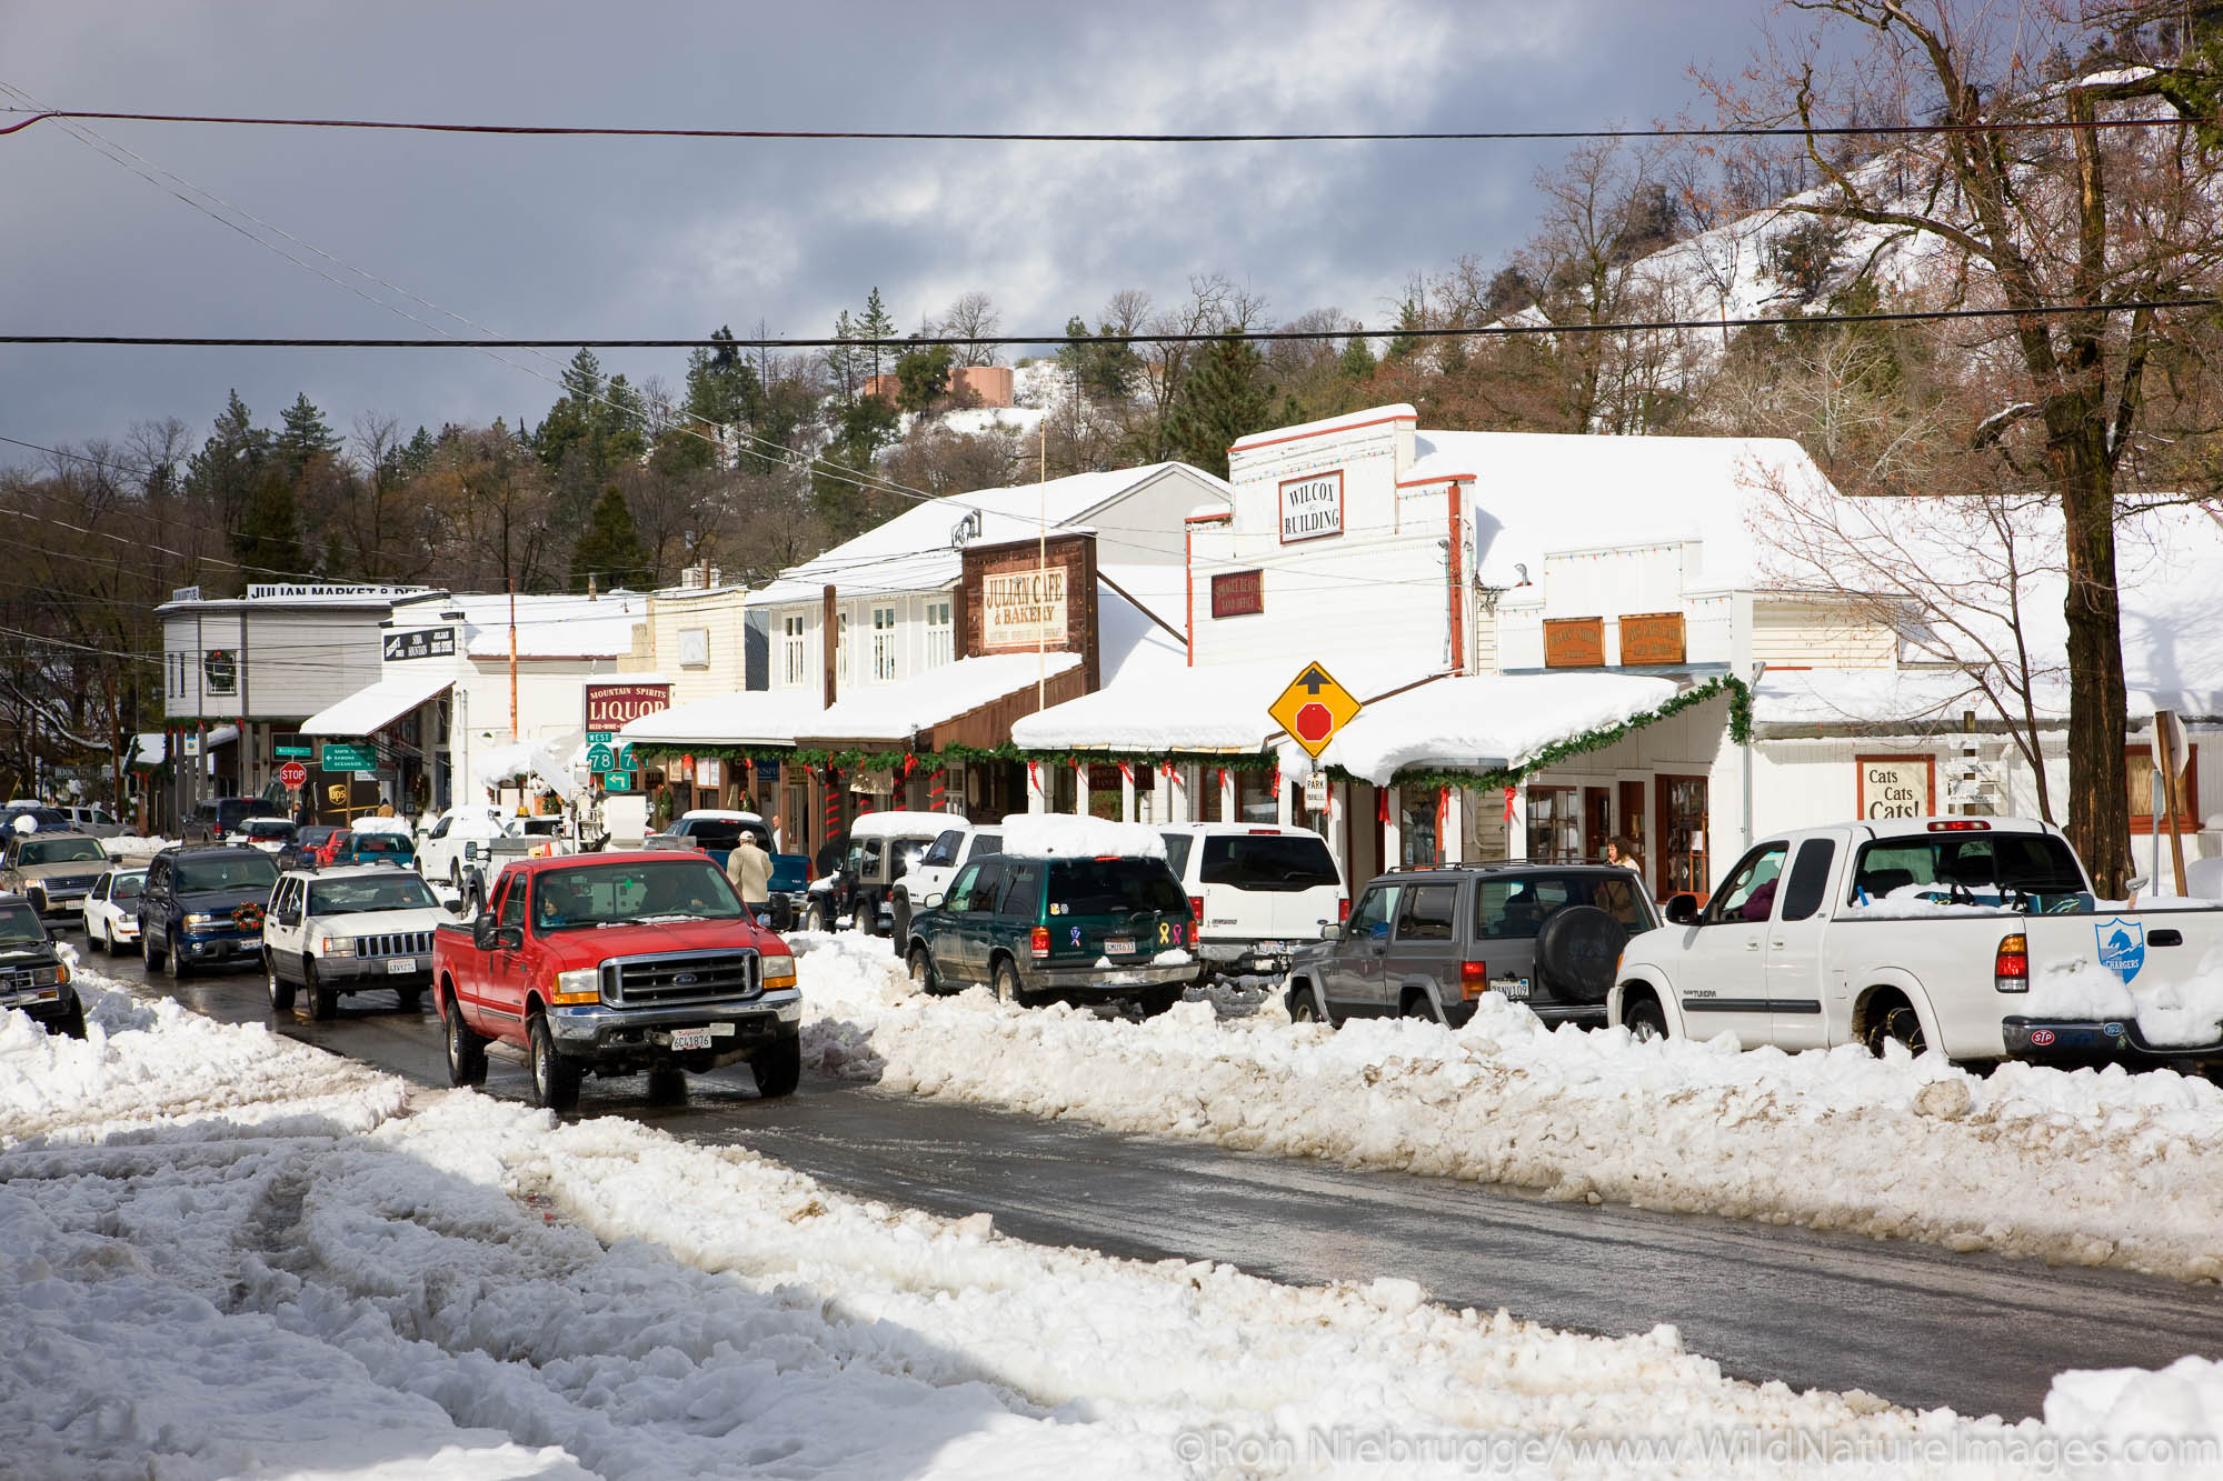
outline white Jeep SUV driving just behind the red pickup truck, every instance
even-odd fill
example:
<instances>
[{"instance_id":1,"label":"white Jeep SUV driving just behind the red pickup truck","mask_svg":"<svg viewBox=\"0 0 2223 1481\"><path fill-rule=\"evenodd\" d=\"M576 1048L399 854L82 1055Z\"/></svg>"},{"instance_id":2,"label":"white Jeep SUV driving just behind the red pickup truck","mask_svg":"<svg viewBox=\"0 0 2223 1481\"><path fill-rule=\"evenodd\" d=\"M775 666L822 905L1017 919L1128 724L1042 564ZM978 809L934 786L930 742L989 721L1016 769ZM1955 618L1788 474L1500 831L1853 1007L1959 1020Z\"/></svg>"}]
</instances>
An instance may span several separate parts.
<instances>
[{"instance_id":1,"label":"white Jeep SUV driving just behind the red pickup truck","mask_svg":"<svg viewBox=\"0 0 2223 1481\"><path fill-rule=\"evenodd\" d=\"M431 987L431 932L449 918L416 874L391 867L293 869L278 876L262 918L262 974L271 1012L331 1018L340 998L393 990L405 1012Z\"/></svg>"}]
</instances>

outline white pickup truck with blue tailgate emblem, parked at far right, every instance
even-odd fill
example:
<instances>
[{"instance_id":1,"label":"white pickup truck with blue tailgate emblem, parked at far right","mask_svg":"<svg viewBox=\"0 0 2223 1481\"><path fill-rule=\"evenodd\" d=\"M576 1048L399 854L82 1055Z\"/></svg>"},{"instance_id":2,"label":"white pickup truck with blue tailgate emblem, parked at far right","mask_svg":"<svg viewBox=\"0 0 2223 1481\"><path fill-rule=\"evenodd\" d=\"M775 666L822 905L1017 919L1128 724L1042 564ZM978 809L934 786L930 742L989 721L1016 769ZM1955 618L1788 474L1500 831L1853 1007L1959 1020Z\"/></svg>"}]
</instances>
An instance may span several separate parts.
<instances>
[{"instance_id":1,"label":"white pickup truck with blue tailgate emblem, parked at far right","mask_svg":"<svg viewBox=\"0 0 2223 1481\"><path fill-rule=\"evenodd\" d=\"M2061 832L1894 818L1781 834L1629 941L1607 1023L1956 1061L2223 1061L2223 905L2099 901Z\"/></svg>"}]
</instances>

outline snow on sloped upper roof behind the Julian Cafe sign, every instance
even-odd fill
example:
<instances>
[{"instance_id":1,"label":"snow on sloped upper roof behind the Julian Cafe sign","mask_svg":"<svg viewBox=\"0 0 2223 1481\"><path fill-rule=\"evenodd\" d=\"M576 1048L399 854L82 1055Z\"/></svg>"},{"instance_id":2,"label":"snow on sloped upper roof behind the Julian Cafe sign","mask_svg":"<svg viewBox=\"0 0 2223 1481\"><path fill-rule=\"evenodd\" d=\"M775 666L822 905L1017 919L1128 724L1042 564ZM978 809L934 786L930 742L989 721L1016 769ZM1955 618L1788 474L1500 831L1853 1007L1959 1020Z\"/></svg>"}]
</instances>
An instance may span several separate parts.
<instances>
[{"instance_id":1,"label":"snow on sloped upper roof behind the Julian Cafe sign","mask_svg":"<svg viewBox=\"0 0 2223 1481\"><path fill-rule=\"evenodd\" d=\"M1051 529L1069 529L1089 509L1176 467L1212 480L1209 474L1183 463L1147 463L1105 474L1071 474L1045 485L1020 483L1007 489L929 498L854 540L843 540L803 565L787 567L778 580L749 598L749 605L816 600L827 585L849 594L947 587L963 567L963 554L954 540L958 525L969 516L980 516L980 531L969 536L967 545L1020 540L1040 529L1045 511Z\"/></svg>"}]
</instances>

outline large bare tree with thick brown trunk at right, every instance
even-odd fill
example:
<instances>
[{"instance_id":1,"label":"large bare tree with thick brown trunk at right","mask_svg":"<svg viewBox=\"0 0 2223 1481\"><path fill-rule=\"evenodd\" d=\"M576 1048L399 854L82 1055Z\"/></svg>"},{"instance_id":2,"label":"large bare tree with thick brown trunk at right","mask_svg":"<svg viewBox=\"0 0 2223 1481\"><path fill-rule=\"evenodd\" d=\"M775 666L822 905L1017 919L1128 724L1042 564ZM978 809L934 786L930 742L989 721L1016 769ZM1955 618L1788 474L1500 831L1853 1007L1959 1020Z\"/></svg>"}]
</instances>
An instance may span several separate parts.
<instances>
[{"instance_id":1,"label":"large bare tree with thick brown trunk at right","mask_svg":"<svg viewBox=\"0 0 2223 1481\"><path fill-rule=\"evenodd\" d=\"M2058 500L2067 556L2070 821L2103 889L2130 874L2119 485L2139 474L2161 367L2190 351L2196 314L2167 307L2056 314L2056 305L2167 305L2212 291L2223 262L2214 156L2196 105L2212 76L2141 27L2141 7L2023 0L1790 0L1812 36L1774 36L1754 67L1709 89L1729 122L1805 129L1821 180L1785 209L1903 231L1934 254L1950 302L2021 311L1978 342L2018 376L1976 427L2016 487ZM2170 7L2176 11L2176 7ZM1841 51L1838 33L1854 47ZM2050 80L2045 60L2103 51ZM1832 69L1827 56L1843 56ZM2056 69L2063 71L2063 69ZM2099 129L2127 113L2167 127ZM1821 127L1938 122L1854 165ZM2052 129L2027 129L2052 125Z\"/></svg>"}]
</instances>

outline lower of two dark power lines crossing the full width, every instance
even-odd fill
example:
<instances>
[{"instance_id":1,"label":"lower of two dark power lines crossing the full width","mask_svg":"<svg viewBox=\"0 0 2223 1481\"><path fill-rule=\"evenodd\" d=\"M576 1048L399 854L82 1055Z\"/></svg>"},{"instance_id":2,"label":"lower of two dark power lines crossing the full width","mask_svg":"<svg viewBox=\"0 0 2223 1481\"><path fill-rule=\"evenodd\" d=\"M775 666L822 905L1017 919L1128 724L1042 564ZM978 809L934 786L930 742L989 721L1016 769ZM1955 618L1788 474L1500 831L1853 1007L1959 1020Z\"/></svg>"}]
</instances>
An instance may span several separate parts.
<instances>
[{"instance_id":1,"label":"lower of two dark power lines crossing the full width","mask_svg":"<svg viewBox=\"0 0 2223 1481\"><path fill-rule=\"evenodd\" d=\"M2223 298L2112 298L2105 302L2041 302L2025 309L1894 309L1887 314L1801 314L1796 318L1654 318L1592 322L1494 322L1463 329L1223 329L1192 334L996 334L916 336L903 340L863 338L680 338L680 340L387 340L338 336L231 336L231 334L0 334L0 345L102 345L171 349L916 349L931 345L1218 345L1280 340L1472 340L1558 334L1645 334L1701 329L1783 329L1794 325L1907 325L1958 318L2056 318L2063 314L2125 314L2132 309L2212 309ZM920 489L911 489L923 494ZM931 496L929 496L931 498Z\"/></svg>"}]
</instances>

